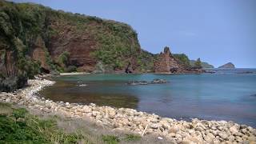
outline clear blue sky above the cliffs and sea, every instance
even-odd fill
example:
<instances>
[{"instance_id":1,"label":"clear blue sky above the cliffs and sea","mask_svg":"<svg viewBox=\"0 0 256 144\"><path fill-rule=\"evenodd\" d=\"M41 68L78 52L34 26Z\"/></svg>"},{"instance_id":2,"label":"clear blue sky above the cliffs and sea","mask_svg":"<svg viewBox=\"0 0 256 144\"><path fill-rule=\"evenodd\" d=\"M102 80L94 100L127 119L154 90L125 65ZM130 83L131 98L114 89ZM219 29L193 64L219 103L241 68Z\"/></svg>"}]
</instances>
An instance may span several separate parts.
<instances>
[{"instance_id":1,"label":"clear blue sky above the cliffs and sea","mask_svg":"<svg viewBox=\"0 0 256 144\"><path fill-rule=\"evenodd\" d=\"M142 49L256 68L256 0L13 0L126 22Z\"/></svg>"}]
</instances>

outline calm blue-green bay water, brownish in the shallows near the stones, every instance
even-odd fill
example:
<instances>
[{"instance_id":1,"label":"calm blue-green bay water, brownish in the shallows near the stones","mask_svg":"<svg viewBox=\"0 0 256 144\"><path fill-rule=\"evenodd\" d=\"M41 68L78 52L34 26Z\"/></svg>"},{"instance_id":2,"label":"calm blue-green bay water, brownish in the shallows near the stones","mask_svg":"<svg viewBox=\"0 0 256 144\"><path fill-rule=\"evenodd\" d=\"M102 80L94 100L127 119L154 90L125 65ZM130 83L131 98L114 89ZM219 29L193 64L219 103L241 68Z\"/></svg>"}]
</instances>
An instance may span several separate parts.
<instances>
[{"instance_id":1,"label":"calm blue-green bay water, brownish in the shallows near the stones","mask_svg":"<svg viewBox=\"0 0 256 144\"><path fill-rule=\"evenodd\" d=\"M256 127L256 69L215 74L91 74L55 78L41 91L62 102L128 107L170 118L226 120ZM242 74L250 71L252 74ZM131 80L169 83L129 86ZM86 84L86 86L79 86Z\"/></svg>"}]
</instances>

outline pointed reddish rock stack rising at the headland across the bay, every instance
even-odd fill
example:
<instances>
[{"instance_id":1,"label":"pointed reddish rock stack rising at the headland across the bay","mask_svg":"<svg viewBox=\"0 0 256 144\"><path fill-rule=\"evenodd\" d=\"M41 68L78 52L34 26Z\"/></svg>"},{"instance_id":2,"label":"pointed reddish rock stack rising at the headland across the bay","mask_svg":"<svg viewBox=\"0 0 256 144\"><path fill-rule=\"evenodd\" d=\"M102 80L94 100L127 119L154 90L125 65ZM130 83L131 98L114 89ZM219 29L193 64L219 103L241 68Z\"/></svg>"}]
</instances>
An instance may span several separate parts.
<instances>
[{"instance_id":1,"label":"pointed reddish rock stack rising at the headland across the bay","mask_svg":"<svg viewBox=\"0 0 256 144\"><path fill-rule=\"evenodd\" d=\"M164 52L158 55L158 60L154 62L155 73L175 73L182 69L183 67L174 59L167 46L164 48Z\"/></svg>"}]
</instances>

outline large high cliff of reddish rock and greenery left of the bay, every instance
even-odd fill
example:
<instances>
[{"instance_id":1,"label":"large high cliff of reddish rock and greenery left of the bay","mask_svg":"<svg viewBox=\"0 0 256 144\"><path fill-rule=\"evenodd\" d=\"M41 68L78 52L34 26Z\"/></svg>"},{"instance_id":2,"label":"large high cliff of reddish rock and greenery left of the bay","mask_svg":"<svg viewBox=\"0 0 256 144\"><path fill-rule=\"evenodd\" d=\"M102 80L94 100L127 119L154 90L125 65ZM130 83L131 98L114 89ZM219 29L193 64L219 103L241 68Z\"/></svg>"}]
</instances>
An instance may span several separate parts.
<instances>
[{"instance_id":1,"label":"large high cliff of reddish rock and greenery left of the bay","mask_svg":"<svg viewBox=\"0 0 256 144\"><path fill-rule=\"evenodd\" d=\"M0 1L0 31L2 75L62 72L70 66L86 72L101 71L98 67L138 72L149 55L125 23L32 3Z\"/></svg>"}]
</instances>

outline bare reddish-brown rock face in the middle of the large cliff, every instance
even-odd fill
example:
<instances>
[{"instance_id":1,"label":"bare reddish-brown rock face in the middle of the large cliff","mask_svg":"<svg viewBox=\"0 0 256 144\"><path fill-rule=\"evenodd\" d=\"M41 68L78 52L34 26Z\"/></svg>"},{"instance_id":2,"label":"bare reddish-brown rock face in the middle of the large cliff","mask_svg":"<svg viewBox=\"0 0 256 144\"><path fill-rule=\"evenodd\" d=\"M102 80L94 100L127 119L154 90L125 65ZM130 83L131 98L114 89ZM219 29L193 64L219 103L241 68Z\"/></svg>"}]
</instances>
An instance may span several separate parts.
<instances>
[{"instance_id":1,"label":"bare reddish-brown rock face in the middle of the large cliff","mask_svg":"<svg viewBox=\"0 0 256 144\"><path fill-rule=\"evenodd\" d=\"M97 62L90 53L96 50L96 41L91 34L86 30L78 33L74 26L60 23L58 20L54 21L51 27L58 30L58 35L50 40L49 51L52 58L56 61L63 51L67 51L70 53L70 66L77 66L80 71L93 71Z\"/></svg>"}]
</instances>

